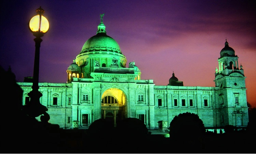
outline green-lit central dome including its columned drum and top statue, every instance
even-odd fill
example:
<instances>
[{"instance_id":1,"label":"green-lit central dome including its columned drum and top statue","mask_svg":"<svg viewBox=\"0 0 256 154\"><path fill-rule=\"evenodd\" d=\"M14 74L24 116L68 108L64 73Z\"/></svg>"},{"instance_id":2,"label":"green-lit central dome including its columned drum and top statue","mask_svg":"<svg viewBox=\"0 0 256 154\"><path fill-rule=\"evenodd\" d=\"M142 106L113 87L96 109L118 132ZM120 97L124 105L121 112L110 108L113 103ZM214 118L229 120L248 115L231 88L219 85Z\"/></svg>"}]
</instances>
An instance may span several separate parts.
<instances>
[{"instance_id":1,"label":"green-lit central dome including its columned drum and top statue","mask_svg":"<svg viewBox=\"0 0 256 154\"><path fill-rule=\"evenodd\" d=\"M106 35L106 26L101 22L95 36L89 38L83 45L82 51L76 56L75 63L81 70L82 78L92 78L90 74L99 68L125 68L126 57L120 51L117 42Z\"/></svg>"}]
</instances>

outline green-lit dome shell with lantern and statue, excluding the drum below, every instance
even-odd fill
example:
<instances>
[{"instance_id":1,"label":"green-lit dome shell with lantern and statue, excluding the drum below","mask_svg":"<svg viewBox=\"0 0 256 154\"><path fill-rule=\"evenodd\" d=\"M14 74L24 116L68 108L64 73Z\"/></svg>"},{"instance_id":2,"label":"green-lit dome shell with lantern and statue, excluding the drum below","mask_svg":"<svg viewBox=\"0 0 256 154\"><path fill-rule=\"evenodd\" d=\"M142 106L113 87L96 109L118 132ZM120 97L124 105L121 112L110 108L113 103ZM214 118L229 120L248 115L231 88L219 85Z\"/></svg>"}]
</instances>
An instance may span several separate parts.
<instances>
[{"instance_id":1,"label":"green-lit dome shell with lantern and statue, excluding the drum below","mask_svg":"<svg viewBox=\"0 0 256 154\"><path fill-rule=\"evenodd\" d=\"M112 37L106 35L106 26L103 24L102 17L98 25L97 34L84 43L80 54L94 51L108 51L122 54L118 43Z\"/></svg>"}]
</instances>

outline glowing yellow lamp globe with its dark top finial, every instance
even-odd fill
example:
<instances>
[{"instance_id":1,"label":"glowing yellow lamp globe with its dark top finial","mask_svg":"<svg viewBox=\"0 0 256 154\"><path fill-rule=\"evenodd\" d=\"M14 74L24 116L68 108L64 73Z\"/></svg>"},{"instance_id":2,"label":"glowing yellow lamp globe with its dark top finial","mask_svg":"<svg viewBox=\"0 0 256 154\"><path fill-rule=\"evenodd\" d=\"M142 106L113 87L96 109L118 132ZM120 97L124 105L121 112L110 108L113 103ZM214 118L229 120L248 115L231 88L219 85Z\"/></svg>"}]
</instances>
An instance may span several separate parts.
<instances>
[{"instance_id":1,"label":"glowing yellow lamp globe with its dark top finial","mask_svg":"<svg viewBox=\"0 0 256 154\"><path fill-rule=\"evenodd\" d=\"M36 12L38 15L32 17L29 21L29 29L34 34L41 33L43 35L49 30L49 22L43 16L44 10L41 6L36 10Z\"/></svg>"}]
</instances>

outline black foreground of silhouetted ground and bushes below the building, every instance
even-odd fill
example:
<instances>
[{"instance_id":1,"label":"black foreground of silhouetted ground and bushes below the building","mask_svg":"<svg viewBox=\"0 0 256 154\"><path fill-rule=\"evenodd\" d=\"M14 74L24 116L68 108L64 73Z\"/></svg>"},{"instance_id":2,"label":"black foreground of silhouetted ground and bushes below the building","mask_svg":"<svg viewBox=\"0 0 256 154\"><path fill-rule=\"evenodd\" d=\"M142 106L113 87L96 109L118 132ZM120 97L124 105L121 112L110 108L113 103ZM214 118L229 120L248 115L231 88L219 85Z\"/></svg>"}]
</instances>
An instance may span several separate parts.
<instances>
[{"instance_id":1,"label":"black foreground of silhouetted ground and bushes below the building","mask_svg":"<svg viewBox=\"0 0 256 154\"><path fill-rule=\"evenodd\" d=\"M88 130L59 129L21 112L23 91L11 69L0 66L2 153L256 153L255 116L246 130L205 132L197 115L183 113L170 123L170 137L152 135L137 118L98 119ZM255 115L255 109L251 111ZM254 118L252 118L254 117ZM194 121L194 122L191 122ZM232 127L232 126L231 126Z\"/></svg>"}]
</instances>

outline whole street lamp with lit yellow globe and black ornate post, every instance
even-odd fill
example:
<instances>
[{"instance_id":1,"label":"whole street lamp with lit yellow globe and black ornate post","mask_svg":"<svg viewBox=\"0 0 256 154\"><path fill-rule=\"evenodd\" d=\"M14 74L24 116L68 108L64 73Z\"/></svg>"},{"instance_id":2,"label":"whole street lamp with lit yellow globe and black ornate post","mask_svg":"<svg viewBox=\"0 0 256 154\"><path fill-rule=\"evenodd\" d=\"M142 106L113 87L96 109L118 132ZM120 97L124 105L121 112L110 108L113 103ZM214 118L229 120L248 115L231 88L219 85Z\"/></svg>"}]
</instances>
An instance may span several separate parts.
<instances>
[{"instance_id":1,"label":"whole street lamp with lit yellow globe and black ornate post","mask_svg":"<svg viewBox=\"0 0 256 154\"><path fill-rule=\"evenodd\" d=\"M32 91L28 93L28 96L30 97L29 103L24 105L23 112L30 117L38 117L41 116L41 121L47 122L50 119L49 114L46 113L48 109L40 103L40 97L42 97L42 93L38 91L39 86L39 53L40 53L40 45L43 41L41 37L44 36L44 34L49 29L49 22L48 20L43 16L44 9L38 8L36 9L37 15L32 17L29 21L29 30L33 33L33 35L36 37L34 39L35 41L35 59L34 59L34 72L33 72L33 85L32 85Z\"/></svg>"}]
</instances>

